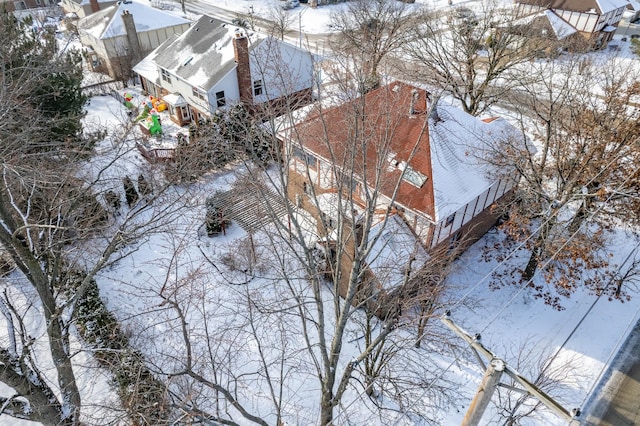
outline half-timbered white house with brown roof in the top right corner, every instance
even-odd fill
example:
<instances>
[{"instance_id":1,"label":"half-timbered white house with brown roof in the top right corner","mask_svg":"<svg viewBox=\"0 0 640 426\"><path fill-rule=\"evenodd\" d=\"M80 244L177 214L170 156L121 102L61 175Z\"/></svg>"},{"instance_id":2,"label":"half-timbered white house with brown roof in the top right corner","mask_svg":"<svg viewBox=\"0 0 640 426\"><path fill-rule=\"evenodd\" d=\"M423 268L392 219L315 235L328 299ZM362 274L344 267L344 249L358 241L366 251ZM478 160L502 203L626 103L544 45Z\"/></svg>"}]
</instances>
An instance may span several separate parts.
<instances>
[{"instance_id":1,"label":"half-timbered white house with brown roof in the top right corner","mask_svg":"<svg viewBox=\"0 0 640 426\"><path fill-rule=\"evenodd\" d=\"M622 14L632 7L629 0L515 0L519 16L548 10L545 19L555 27L557 19L569 24L594 49L604 48L613 38ZM553 15L553 16L551 16Z\"/></svg>"}]
</instances>

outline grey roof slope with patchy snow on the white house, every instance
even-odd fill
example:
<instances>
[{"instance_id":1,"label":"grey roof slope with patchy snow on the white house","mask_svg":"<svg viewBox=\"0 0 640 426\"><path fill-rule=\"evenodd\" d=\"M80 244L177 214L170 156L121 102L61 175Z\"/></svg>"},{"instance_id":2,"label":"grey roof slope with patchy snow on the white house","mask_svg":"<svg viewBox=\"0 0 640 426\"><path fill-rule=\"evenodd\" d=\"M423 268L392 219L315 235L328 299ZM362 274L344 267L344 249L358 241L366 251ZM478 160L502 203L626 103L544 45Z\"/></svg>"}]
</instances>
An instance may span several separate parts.
<instances>
[{"instance_id":1,"label":"grey roof slope with patchy snow on the white house","mask_svg":"<svg viewBox=\"0 0 640 426\"><path fill-rule=\"evenodd\" d=\"M209 90L236 66L232 40L238 30L234 25L203 15L191 28L166 40L143 61L152 61L191 85ZM249 50L259 40L257 35L250 35Z\"/></svg>"}]
</instances>

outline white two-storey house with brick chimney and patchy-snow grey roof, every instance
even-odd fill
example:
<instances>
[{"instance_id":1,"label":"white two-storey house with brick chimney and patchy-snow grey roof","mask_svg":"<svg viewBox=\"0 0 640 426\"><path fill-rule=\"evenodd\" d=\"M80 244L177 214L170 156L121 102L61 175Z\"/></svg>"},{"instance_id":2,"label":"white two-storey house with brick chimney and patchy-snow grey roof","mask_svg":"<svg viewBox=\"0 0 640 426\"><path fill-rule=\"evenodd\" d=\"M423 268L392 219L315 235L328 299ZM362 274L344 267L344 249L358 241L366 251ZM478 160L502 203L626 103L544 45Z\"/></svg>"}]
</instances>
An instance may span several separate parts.
<instances>
[{"instance_id":1,"label":"white two-storey house with brick chimney and patchy-snow grey roof","mask_svg":"<svg viewBox=\"0 0 640 426\"><path fill-rule=\"evenodd\" d=\"M197 123L238 103L253 112L287 102L309 103L315 77L312 55L246 31L204 15L133 70L149 94L167 102L171 119L179 125Z\"/></svg>"}]
</instances>

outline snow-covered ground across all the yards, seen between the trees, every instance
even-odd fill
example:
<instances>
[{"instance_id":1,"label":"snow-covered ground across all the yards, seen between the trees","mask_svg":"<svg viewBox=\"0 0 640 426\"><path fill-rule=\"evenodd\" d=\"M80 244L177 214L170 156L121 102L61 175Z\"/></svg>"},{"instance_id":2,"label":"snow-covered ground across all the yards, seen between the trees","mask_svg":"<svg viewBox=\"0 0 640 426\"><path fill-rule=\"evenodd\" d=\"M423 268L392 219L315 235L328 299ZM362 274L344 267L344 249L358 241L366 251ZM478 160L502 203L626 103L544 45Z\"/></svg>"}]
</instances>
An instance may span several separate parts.
<instances>
[{"instance_id":1,"label":"snow-covered ground across all the yards, seen between the trees","mask_svg":"<svg viewBox=\"0 0 640 426\"><path fill-rule=\"evenodd\" d=\"M281 3L209 2L238 13L252 10L261 17L268 17L270 10ZM464 3L473 6L479 2ZM425 4L447 6L446 0L418 0L416 6ZM289 13L299 29L319 34L329 30L329 15L344 7L347 5L336 4L312 10L302 5ZM616 54L624 61L636 61L629 43L616 39L619 49L597 55ZM134 93L136 103L143 101L138 88L129 91ZM118 100L96 96L86 110L85 127L104 130L107 136L98 143L97 155L81 170L82 177L95 179L96 188L104 191L121 192L124 176L141 174L156 188L166 184L162 164L148 163L136 148L141 134L129 130L131 117ZM179 131L170 125L166 114L165 123L166 133L175 135ZM143 219L167 212L168 216L155 232L131 242L120 253L126 257L101 271L96 279L103 300L122 322L132 345L144 353L151 370L170 383L181 403L209 412L226 410L241 418L214 387L204 384L209 381L233 388L245 408L269 424L275 424L281 415L288 425L314 425L319 417L320 391L316 360L306 344L319 336L305 329L302 315L292 316L300 304L296 296L310 298L312 293L307 272L295 256L295 244L286 235L278 235L273 223L248 232L232 222L223 235L215 237L207 237L203 229L207 198L218 191L234 190L244 178L243 165L228 166L193 183L169 185L152 205L141 204L131 210L124 207L123 215L139 209L137 214ZM314 227L314 219L305 220L309 228ZM570 298L559 296L558 309L534 297L531 287L497 284L497 276L508 276L526 263L526 258L512 256L504 238L500 231L491 230L456 260L440 311L450 311L451 318L469 334L480 334L486 348L525 377L534 380L543 370L553 372L557 382L551 384L548 393L568 410L584 409L604 370L640 318L640 288L628 288L630 300L623 302L599 297L577 283L578 290ZM614 227L607 231L606 238L612 271L624 270L633 260L640 260L637 229ZM88 248L87 254L95 253ZM554 294L542 276L536 276L534 282ZM20 290L9 280L3 280L2 287ZM321 294L330 307L332 289L322 288ZM24 309L26 306L25 302ZM327 318L332 317L332 309L325 312ZM341 368L353 362L366 345L362 332L365 320L365 313L360 311L350 319ZM46 339L42 324L31 326L37 332L36 339ZM396 389L396 395L402 394L410 404L399 406L391 392L370 398L361 383L352 383L335 410L336 424L460 424L483 372L468 345L444 324L432 320L430 335L454 343L426 338L421 348L415 348L416 332L411 327L399 328L388 343L401 355L386 366L385 372L407 383L406 389ZM47 359L46 350L40 352ZM109 374L97 368L86 353L80 352L74 361L89 406L86 421L111 421L105 417L108 408L104 407L118 402ZM50 360L44 364L49 365L47 374L55 374ZM185 374L188 370L193 374ZM447 389L449 399L438 400L439 389ZM8 394L11 390L3 387L0 391ZM508 394L504 389L499 392L500 398ZM493 401L497 400L494 397ZM386 409L379 416L372 414L376 404ZM247 420L238 423L251 424ZM489 407L483 423L499 423L495 406ZM33 423L0 415L0 424ZM541 409L523 419L522 424L566 422Z\"/></svg>"}]
</instances>

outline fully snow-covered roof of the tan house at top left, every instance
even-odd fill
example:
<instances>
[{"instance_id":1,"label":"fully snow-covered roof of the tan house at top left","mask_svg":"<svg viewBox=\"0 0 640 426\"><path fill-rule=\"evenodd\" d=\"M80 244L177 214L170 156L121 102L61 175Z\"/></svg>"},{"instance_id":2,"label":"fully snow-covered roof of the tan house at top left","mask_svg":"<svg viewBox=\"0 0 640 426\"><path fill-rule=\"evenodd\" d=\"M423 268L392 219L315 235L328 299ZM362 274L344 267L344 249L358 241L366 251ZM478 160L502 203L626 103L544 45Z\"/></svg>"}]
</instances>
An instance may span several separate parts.
<instances>
[{"instance_id":1,"label":"fully snow-covered roof of the tan house at top left","mask_svg":"<svg viewBox=\"0 0 640 426\"><path fill-rule=\"evenodd\" d=\"M118 2L118 4L82 18L78 21L77 26L101 40L124 36L127 34L122 21L122 14L125 10L133 15L136 31L139 33L191 22L142 3L128 1Z\"/></svg>"}]
</instances>

